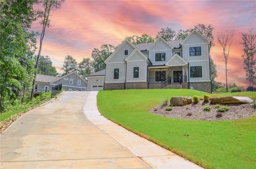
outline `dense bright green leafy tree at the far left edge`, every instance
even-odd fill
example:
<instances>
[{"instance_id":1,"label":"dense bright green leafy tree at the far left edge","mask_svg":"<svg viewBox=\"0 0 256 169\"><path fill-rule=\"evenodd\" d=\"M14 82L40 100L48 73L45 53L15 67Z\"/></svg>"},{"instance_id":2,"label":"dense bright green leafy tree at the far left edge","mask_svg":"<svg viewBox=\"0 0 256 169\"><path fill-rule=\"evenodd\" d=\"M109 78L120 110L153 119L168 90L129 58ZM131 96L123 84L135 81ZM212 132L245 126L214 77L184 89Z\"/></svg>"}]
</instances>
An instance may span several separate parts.
<instances>
[{"instance_id":1,"label":"dense bright green leafy tree at the far left edge","mask_svg":"<svg viewBox=\"0 0 256 169\"><path fill-rule=\"evenodd\" d=\"M17 99L30 69L35 51L35 33L30 32L36 20L36 1L1 1L0 10L0 111Z\"/></svg>"}]
</instances>

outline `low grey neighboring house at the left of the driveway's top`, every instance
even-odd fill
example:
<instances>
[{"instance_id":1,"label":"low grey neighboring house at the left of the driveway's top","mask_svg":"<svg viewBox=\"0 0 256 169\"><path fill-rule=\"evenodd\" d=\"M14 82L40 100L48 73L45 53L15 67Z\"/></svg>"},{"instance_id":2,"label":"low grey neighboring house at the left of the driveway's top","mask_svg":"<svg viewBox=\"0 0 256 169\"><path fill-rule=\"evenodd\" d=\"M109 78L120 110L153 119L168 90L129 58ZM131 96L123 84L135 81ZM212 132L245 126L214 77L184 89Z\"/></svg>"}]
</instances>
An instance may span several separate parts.
<instances>
[{"instance_id":1,"label":"low grey neighboring house at the left of the driveway's top","mask_svg":"<svg viewBox=\"0 0 256 169\"><path fill-rule=\"evenodd\" d=\"M51 91L53 86L61 84L65 91L86 91L87 82L76 73L62 77L36 75L35 93Z\"/></svg>"}]
</instances>

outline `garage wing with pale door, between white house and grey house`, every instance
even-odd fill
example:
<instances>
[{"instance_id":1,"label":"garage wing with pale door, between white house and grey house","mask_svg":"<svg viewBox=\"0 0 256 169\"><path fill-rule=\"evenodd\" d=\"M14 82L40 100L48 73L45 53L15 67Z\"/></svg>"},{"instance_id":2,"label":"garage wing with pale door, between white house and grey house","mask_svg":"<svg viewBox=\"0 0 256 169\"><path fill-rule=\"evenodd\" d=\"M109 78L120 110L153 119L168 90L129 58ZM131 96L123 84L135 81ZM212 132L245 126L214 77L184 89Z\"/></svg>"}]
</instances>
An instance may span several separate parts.
<instances>
[{"instance_id":1,"label":"garage wing with pale door, between white house and grey house","mask_svg":"<svg viewBox=\"0 0 256 169\"><path fill-rule=\"evenodd\" d=\"M87 76L87 91L99 91L104 89L106 69L97 71Z\"/></svg>"}]
</instances>

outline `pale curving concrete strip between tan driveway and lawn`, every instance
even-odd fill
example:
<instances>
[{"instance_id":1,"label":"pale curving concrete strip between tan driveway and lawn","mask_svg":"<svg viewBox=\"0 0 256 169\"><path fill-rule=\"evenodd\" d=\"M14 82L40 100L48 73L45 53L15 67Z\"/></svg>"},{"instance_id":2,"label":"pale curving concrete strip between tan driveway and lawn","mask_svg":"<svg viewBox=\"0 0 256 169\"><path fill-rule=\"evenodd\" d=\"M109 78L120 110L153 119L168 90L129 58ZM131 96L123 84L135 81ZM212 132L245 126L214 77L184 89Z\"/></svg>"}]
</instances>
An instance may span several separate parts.
<instances>
[{"instance_id":1,"label":"pale curving concrete strip between tan driveway and lawn","mask_svg":"<svg viewBox=\"0 0 256 169\"><path fill-rule=\"evenodd\" d=\"M89 93L83 109L85 116L143 162L153 168L202 168L102 116L97 107L97 94Z\"/></svg>"}]
</instances>

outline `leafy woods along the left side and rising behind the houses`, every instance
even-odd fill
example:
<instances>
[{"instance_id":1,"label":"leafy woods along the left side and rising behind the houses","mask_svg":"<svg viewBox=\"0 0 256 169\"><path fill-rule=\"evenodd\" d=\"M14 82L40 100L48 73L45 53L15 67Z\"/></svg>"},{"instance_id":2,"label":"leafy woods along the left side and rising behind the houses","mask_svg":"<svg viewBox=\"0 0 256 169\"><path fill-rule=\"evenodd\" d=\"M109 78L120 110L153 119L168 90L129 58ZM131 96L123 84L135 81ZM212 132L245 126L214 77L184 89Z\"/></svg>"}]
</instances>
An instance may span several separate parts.
<instances>
[{"instance_id":1,"label":"leafy woods along the left side and rising behind the houses","mask_svg":"<svg viewBox=\"0 0 256 169\"><path fill-rule=\"evenodd\" d=\"M64 1L57 0L3 0L0 2L0 111L4 111L9 104L29 99L29 92L34 85L35 74L56 76L57 70L52 66L49 56L42 56L43 39L45 30L50 26L50 15L54 10L58 10ZM34 10L35 4L42 4L43 10ZM42 25L42 32L30 31L31 23L39 21ZM185 39L191 31L198 30L199 33L208 38L212 43L210 49L214 47L214 28L211 25L198 24L186 30L178 32L167 27L158 31L155 37L148 34L141 36L128 36L133 44L154 42L158 37L166 41ZM36 38L40 35L38 53ZM244 69L247 80L251 85L255 84L255 34L252 31L242 35L244 59ZM232 39L232 38L231 38ZM114 52L117 46L103 44L99 49L94 48L91 56L84 58L81 62L67 55L63 63L63 74L71 71L85 78L92 72L106 68L104 61ZM223 50L226 52L226 50ZM224 54L223 54L224 55ZM90 59L91 58L91 59ZM213 89L220 83L215 82L217 70L210 57L211 81ZM60 75L61 76L61 75ZM33 96L31 94L31 96Z\"/></svg>"}]
</instances>

